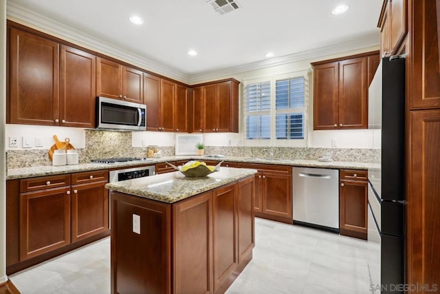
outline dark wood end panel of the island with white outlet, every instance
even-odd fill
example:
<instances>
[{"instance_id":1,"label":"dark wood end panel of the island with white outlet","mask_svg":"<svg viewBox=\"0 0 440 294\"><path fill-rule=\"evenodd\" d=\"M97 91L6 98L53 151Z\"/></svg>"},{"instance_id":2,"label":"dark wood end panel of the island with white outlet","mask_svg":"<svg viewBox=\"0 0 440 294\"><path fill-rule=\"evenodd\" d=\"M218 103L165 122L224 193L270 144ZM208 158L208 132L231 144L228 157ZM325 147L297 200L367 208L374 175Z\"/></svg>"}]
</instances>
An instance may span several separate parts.
<instances>
[{"instance_id":1,"label":"dark wood end panel of the island with white outlet","mask_svg":"<svg viewBox=\"0 0 440 294\"><path fill-rule=\"evenodd\" d=\"M111 292L171 293L170 205L111 192Z\"/></svg>"}]
</instances>

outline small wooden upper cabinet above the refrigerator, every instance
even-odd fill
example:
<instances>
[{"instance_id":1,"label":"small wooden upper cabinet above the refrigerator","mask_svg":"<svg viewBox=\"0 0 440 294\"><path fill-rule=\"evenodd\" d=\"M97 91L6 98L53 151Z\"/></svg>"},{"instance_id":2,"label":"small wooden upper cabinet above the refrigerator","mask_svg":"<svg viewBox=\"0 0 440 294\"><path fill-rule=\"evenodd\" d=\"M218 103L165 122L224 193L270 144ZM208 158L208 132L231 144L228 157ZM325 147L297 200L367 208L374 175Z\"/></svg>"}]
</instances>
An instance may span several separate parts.
<instances>
[{"instance_id":1,"label":"small wooden upper cabinet above the refrigerator","mask_svg":"<svg viewBox=\"0 0 440 294\"><path fill-rule=\"evenodd\" d=\"M380 28L380 56L398 54L397 51L408 31L407 1L384 1L379 23L377 24L377 27Z\"/></svg>"}]
</instances>

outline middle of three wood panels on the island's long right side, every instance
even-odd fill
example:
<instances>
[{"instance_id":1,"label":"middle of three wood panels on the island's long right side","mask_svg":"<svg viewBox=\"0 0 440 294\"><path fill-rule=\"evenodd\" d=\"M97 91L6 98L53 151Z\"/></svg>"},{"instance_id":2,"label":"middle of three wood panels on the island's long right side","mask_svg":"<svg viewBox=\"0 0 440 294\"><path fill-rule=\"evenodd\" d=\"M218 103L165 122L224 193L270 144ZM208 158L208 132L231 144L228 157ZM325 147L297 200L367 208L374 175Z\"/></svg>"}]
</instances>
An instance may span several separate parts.
<instances>
[{"instance_id":1,"label":"middle of three wood panels on the island's long right side","mask_svg":"<svg viewBox=\"0 0 440 294\"><path fill-rule=\"evenodd\" d=\"M238 265L236 248L236 185L214 190L214 291L224 283Z\"/></svg>"}]
</instances>

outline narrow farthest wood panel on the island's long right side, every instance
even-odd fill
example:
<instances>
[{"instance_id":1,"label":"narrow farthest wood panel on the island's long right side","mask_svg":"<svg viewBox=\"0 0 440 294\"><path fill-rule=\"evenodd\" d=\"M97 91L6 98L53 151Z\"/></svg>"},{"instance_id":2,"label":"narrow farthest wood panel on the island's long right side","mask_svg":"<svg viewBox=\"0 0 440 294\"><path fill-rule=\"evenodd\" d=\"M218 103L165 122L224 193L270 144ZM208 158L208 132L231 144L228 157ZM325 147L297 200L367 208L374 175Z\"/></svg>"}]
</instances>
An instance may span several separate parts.
<instances>
[{"instance_id":1,"label":"narrow farthest wood panel on the island's long right side","mask_svg":"<svg viewBox=\"0 0 440 294\"><path fill-rule=\"evenodd\" d=\"M237 193L237 227L239 243L239 266L248 262L255 244L254 229L254 177L241 180Z\"/></svg>"}]
</instances>

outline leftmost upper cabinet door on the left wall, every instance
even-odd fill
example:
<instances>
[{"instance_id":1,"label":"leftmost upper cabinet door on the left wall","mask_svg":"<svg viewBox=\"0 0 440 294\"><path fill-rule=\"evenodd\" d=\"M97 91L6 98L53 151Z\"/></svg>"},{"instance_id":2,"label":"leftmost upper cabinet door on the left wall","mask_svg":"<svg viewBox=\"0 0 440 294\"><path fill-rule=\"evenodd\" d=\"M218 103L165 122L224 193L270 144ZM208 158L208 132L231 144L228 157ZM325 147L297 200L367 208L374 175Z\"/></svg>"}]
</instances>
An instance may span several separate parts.
<instances>
[{"instance_id":1,"label":"leftmost upper cabinet door on the left wall","mask_svg":"<svg viewBox=\"0 0 440 294\"><path fill-rule=\"evenodd\" d=\"M58 125L58 43L10 28L8 123Z\"/></svg>"}]
</instances>

